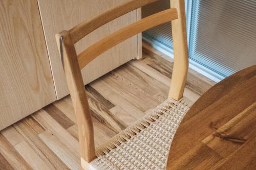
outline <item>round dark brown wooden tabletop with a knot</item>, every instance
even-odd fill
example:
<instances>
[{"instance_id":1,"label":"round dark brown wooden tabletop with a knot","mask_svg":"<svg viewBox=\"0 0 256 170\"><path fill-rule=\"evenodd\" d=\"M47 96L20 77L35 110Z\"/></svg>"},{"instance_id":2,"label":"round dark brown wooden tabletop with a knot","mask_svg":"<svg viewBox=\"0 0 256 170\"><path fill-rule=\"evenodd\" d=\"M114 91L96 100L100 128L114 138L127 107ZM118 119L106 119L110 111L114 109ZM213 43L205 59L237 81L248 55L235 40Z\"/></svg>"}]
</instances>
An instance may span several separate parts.
<instances>
[{"instance_id":1,"label":"round dark brown wooden tabletop with a knot","mask_svg":"<svg viewBox=\"0 0 256 170\"><path fill-rule=\"evenodd\" d=\"M210 88L187 112L167 169L256 169L256 65Z\"/></svg>"}]
</instances>

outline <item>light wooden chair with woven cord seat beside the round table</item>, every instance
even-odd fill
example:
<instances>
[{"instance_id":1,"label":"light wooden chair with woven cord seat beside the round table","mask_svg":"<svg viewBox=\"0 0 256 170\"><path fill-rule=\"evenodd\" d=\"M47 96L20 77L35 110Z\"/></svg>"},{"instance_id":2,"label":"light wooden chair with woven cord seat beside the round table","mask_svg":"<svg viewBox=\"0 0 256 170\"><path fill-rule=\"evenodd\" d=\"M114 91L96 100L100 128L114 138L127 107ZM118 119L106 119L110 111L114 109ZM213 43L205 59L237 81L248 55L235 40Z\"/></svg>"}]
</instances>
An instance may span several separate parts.
<instances>
[{"instance_id":1,"label":"light wooden chair with woven cord seat beside the round table","mask_svg":"<svg viewBox=\"0 0 256 170\"><path fill-rule=\"evenodd\" d=\"M156 0L131 0L56 35L72 103L77 117L81 166L84 169L164 169L170 142L189 109L183 98L188 70L184 0L106 36L76 54L74 44L109 21ZM81 69L118 43L164 22L172 21L174 68L165 102L95 150L93 123Z\"/></svg>"}]
</instances>

